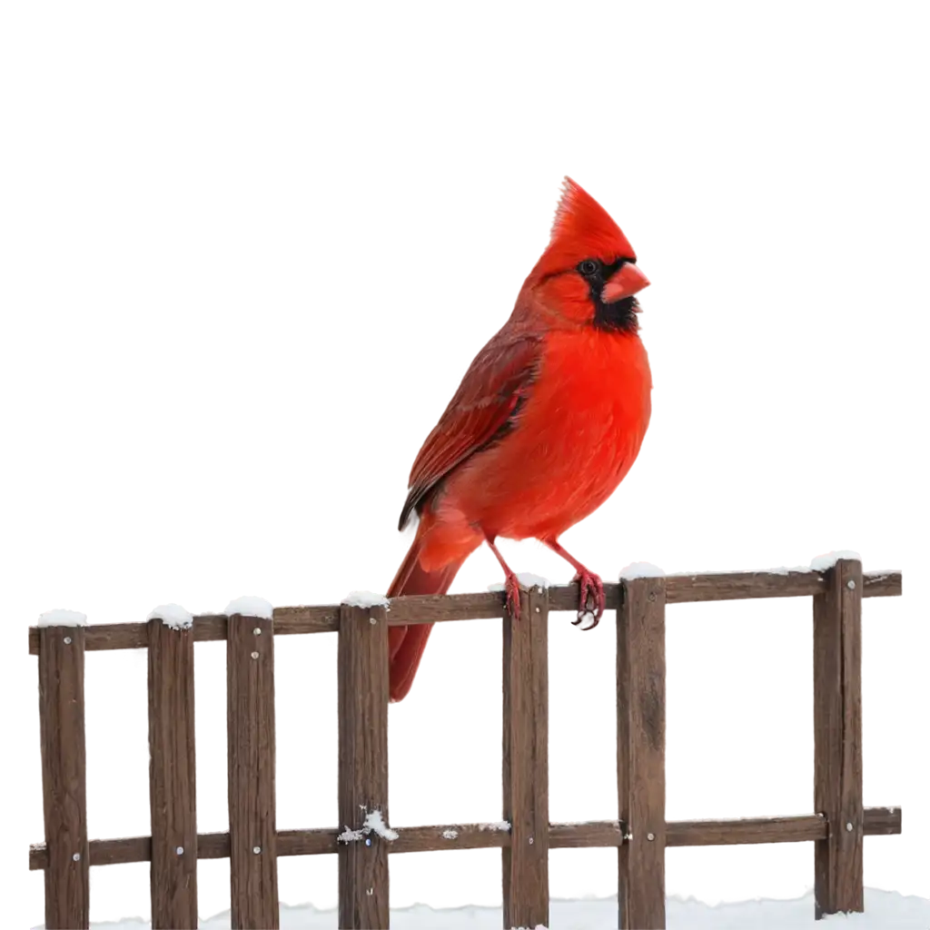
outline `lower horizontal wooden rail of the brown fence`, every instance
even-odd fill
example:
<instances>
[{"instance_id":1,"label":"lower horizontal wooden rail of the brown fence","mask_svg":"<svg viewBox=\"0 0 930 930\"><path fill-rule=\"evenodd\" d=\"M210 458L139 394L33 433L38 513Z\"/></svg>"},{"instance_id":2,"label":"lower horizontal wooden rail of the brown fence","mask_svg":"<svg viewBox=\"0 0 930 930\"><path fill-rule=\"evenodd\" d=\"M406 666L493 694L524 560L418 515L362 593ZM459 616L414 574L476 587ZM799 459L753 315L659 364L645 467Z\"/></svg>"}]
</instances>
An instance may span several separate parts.
<instances>
[{"instance_id":1,"label":"lower horizontal wooden rail of the brown fence","mask_svg":"<svg viewBox=\"0 0 930 930\"><path fill-rule=\"evenodd\" d=\"M862 812L867 836L918 835L910 809L875 806L867 802ZM671 817L666 821L666 844L671 848L692 846L735 846L774 843L804 843L823 839L827 821L816 814L773 814L746 817ZM333 827L301 827L277 830L277 855L333 857L338 851ZM463 849L504 849L510 845L510 830L493 821L421 824L398 830L392 853L442 853ZM623 842L617 820L555 820L549 825L551 849L616 849ZM230 855L229 830L197 834L197 858L221 860ZM37 869L48 866L45 843L29 844L28 859ZM90 840L92 866L152 861L151 836L106 836Z\"/></svg>"}]
</instances>

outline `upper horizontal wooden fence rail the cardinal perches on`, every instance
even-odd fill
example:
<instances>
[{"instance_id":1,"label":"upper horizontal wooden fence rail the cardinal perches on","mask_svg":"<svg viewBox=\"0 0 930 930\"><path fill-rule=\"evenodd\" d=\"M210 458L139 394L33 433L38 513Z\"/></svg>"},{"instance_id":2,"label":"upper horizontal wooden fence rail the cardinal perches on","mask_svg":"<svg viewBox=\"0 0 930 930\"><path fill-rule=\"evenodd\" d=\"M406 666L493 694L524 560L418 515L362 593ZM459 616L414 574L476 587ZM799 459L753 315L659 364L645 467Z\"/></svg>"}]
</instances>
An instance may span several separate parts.
<instances>
[{"instance_id":1,"label":"upper horizontal wooden fence rail the cardinal perches on","mask_svg":"<svg viewBox=\"0 0 930 930\"><path fill-rule=\"evenodd\" d=\"M826 590L826 581L819 572L712 572L698 575L672 576L666 579L666 599L670 602L709 602L771 600L776 598L801 600ZM901 593L902 574L898 571L871 572L864 578L867 598L894 597ZM616 611L619 586L605 584L607 611ZM549 589L551 610L570 616L578 604L578 585L558 585ZM454 594L414 594L393 598L388 624L405 626L411 623L490 623L501 617L503 595L498 591L474 591ZM612 623L598 630L609 631ZM202 614L194 618L193 639L196 643L216 642L228 636L229 621L219 614ZM306 635L339 630L339 604L286 606L274 610L275 636ZM141 621L106 623L86 628L86 648L89 652L110 652L118 649L140 649L149 645L149 627ZM30 627L27 645L38 648L38 629Z\"/></svg>"}]
</instances>

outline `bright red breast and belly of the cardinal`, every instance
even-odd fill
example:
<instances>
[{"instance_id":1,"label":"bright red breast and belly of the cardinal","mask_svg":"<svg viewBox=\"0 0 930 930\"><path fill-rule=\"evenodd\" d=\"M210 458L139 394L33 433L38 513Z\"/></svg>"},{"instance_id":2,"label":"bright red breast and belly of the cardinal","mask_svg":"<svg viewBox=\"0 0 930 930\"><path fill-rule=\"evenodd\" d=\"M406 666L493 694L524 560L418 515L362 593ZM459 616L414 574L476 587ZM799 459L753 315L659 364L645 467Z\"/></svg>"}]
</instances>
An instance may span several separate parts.
<instances>
[{"instance_id":1,"label":"bright red breast and belly of the cardinal","mask_svg":"<svg viewBox=\"0 0 930 930\"><path fill-rule=\"evenodd\" d=\"M451 474L435 498L420 552L428 571L485 534L557 536L603 504L635 458L651 393L640 339L553 332L539 342L533 366L512 428Z\"/></svg>"}]
</instances>

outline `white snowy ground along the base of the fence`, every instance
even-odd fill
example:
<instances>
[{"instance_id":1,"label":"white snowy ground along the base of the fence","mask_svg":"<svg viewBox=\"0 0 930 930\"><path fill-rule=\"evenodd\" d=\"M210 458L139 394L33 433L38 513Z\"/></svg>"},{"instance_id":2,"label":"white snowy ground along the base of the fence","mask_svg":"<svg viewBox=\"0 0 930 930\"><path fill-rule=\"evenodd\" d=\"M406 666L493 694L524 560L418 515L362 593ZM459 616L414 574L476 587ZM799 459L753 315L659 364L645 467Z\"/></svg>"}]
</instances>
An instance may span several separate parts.
<instances>
[{"instance_id":1,"label":"white snowy ground along the base of the fence","mask_svg":"<svg viewBox=\"0 0 930 930\"><path fill-rule=\"evenodd\" d=\"M391 911L392 930L500 930L500 904L404 904ZM33 923L32 928L42 924ZM100 917L98 930L143 930L144 914ZM225 930L229 911L200 920L200 930ZM335 930L331 898L308 897L281 905L281 930ZM601 889L578 889L551 899L551 930L616 930L617 898ZM866 912L814 921L809 886L789 888L676 888L668 897L668 930L930 930L930 882L869 882Z\"/></svg>"}]
</instances>

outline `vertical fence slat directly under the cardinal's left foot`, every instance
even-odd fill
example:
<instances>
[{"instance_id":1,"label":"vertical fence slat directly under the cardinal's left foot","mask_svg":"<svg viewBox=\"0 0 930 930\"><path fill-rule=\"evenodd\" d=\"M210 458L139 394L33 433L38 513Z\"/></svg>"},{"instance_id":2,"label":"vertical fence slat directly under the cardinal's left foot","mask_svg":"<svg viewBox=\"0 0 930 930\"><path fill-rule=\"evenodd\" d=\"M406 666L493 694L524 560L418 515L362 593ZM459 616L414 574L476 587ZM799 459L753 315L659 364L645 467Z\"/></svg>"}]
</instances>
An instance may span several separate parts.
<instances>
[{"instance_id":1,"label":"vertical fence slat directly under the cardinal's left foot","mask_svg":"<svg viewBox=\"0 0 930 930\"><path fill-rule=\"evenodd\" d=\"M549 926L551 873L546 746L546 606L538 588L521 591L520 618L501 631L504 819L504 928Z\"/></svg>"}]
</instances>

